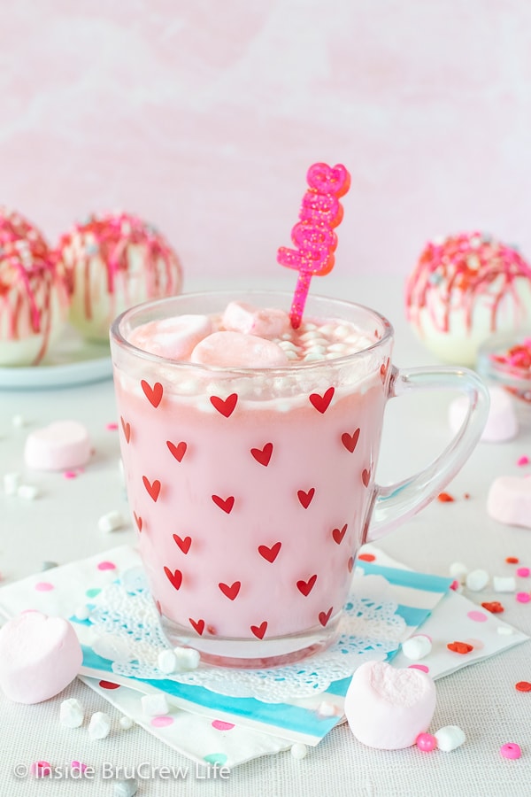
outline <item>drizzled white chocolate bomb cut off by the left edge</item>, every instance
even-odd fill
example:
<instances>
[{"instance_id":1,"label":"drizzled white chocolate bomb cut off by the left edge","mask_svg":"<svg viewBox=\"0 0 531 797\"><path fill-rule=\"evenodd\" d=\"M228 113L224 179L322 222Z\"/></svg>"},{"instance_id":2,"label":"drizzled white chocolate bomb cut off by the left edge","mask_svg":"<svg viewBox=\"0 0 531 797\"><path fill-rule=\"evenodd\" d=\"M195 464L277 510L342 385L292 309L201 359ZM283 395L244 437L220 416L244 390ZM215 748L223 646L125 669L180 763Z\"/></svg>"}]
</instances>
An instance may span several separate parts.
<instances>
[{"instance_id":1,"label":"drizzled white chocolate bomb cut off by the left edge","mask_svg":"<svg viewBox=\"0 0 531 797\"><path fill-rule=\"evenodd\" d=\"M35 365L67 313L65 283L42 233L0 207L0 365Z\"/></svg>"}]
</instances>

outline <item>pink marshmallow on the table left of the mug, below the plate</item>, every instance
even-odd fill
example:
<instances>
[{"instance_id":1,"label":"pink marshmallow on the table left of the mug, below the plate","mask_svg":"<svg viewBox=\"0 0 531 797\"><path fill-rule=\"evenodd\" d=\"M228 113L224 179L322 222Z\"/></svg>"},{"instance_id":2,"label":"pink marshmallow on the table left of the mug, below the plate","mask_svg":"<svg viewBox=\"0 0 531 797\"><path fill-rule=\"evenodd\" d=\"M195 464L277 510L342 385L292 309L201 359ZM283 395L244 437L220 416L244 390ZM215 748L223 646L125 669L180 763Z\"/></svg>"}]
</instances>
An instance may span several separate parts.
<instances>
[{"instance_id":1,"label":"pink marshmallow on the table left of the mug, below the plate","mask_svg":"<svg viewBox=\"0 0 531 797\"><path fill-rule=\"evenodd\" d=\"M77 421L58 421L29 434L24 448L34 470L81 468L90 459L89 432Z\"/></svg>"}]
</instances>

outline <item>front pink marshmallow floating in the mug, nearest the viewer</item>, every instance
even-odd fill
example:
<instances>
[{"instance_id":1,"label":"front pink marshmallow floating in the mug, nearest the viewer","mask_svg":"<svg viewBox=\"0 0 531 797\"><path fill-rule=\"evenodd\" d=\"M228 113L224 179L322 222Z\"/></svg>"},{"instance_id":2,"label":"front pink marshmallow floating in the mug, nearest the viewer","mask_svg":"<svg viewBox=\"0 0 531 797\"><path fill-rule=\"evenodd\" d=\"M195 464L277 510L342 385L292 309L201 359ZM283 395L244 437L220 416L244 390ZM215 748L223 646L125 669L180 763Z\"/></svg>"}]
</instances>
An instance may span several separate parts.
<instances>
[{"instance_id":1,"label":"front pink marshmallow floating in the mug, nearest the viewer","mask_svg":"<svg viewBox=\"0 0 531 797\"><path fill-rule=\"evenodd\" d=\"M289 364L281 347L256 335L212 332L192 352L191 361L226 368L282 368Z\"/></svg>"}]
</instances>

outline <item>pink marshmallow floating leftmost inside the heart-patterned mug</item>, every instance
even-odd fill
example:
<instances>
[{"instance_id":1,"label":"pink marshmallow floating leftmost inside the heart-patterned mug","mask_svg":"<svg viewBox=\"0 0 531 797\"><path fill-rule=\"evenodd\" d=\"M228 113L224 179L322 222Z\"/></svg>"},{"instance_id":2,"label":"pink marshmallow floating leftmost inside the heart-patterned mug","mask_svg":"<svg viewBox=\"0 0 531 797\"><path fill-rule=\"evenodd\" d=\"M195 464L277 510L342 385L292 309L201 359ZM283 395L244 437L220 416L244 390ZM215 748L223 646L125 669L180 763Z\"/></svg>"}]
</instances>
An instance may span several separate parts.
<instances>
[{"instance_id":1,"label":"pink marshmallow floating leftmost inside the heart-patterned mug","mask_svg":"<svg viewBox=\"0 0 531 797\"><path fill-rule=\"evenodd\" d=\"M207 315L178 315L134 329L129 343L166 360L189 360L194 346L211 332L212 321Z\"/></svg>"}]
</instances>

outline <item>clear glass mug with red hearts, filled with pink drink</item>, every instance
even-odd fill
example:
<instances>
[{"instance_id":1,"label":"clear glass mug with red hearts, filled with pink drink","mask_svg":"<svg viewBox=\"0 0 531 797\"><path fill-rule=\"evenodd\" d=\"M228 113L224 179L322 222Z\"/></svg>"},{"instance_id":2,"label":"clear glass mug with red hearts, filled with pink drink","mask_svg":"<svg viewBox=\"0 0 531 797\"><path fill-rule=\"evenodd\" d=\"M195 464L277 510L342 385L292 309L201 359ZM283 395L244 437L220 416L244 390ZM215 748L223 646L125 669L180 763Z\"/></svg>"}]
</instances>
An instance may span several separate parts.
<instances>
[{"instance_id":1,"label":"clear glass mug with red hearts, filled with pink drink","mask_svg":"<svg viewBox=\"0 0 531 797\"><path fill-rule=\"evenodd\" d=\"M466 368L398 370L389 321L331 298L308 298L304 321L354 325L363 351L219 368L128 342L149 321L222 313L234 300L290 305L274 291L148 302L112 324L112 362L127 495L165 634L206 662L264 667L335 638L359 546L448 484L481 436L489 397ZM388 399L443 388L468 398L462 428L427 468L376 484Z\"/></svg>"}]
</instances>

